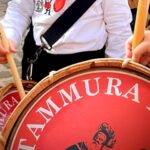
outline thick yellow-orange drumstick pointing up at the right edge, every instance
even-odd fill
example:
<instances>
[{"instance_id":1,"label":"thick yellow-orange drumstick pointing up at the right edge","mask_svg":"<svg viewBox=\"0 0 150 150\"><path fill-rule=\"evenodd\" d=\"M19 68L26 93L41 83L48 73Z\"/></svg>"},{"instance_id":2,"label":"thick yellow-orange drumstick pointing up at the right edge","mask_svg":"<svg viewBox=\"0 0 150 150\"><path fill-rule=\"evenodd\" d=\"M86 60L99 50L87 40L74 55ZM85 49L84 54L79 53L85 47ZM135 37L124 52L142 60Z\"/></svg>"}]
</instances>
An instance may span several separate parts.
<instances>
[{"instance_id":1,"label":"thick yellow-orange drumstick pointing up at the right edge","mask_svg":"<svg viewBox=\"0 0 150 150\"><path fill-rule=\"evenodd\" d=\"M149 0L139 0L136 14L136 21L133 34L132 50L136 48L142 41L144 37L144 31L146 27L147 17L149 9ZM125 67L129 59L125 59L122 67Z\"/></svg>"}]
</instances>

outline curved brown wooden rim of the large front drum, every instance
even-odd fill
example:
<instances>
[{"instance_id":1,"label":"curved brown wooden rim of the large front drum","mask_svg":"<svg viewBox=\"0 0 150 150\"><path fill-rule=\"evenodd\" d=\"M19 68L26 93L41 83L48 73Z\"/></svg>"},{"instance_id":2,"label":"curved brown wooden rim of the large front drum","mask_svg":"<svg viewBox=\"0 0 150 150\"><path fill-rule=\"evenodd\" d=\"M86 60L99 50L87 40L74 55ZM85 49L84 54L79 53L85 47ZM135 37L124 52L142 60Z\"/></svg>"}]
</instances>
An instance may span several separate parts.
<instances>
[{"instance_id":1,"label":"curved brown wooden rim of the large front drum","mask_svg":"<svg viewBox=\"0 0 150 150\"><path fill-rule=\"evenodd\" d=\"M124 62L123 59L115 59L115 58L101 58L101 59L91 59L83 62L79 62L67 67L64 67L58 71L52 71L48 76L43 78L38 84L36 84L28 94L22 99L22 102L17 105L15 108L15 113L13 112L12 115L7 120L6 126L2 130L2 135L7 142L8 137L12 131L14 131L14 124L16 123L17 119L19 118L20 114L23 112L25 107L39 94L43 89L50 86L52 83L55 83L59 79L78 73L80 71L89 70L91 68L99 68L99 67L115 67L124 70L136 71L136 73L140 73L144 76L148 76L150 79L150 69L138 63L130 61L125 68L122 68L122 63ZM12 119L13 118L13 119ZM0 140L0 147L3 145L2 141ZM3 147L3 146L2 146Z\"/></svg>"}]
</instances>

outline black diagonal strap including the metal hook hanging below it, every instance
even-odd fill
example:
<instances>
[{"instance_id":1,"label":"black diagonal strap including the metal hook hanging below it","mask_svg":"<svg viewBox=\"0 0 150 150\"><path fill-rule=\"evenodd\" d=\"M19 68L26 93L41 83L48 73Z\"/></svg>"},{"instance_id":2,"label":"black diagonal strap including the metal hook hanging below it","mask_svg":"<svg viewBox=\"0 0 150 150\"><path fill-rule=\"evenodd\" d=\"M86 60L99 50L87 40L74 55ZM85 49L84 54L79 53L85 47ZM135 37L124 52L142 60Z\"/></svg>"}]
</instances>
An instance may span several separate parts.
<instances>
[{"instance_id":1,"label":"black diagonal strap including the metal hook hanging below it","mask_svg":"<svg viewBox=\"0 0 150 150\"><path fill-rule=\"evenodd\" d=\"M26 74L22 73L22 77L27 80L32 80L33 64L38 60L42 50L51 50L52 45L84 14L86 10L96 0L76 0L41 36L42 46L39 47L33 54L32 58L27 57L27 62L23 58L22 65L26 66ZM30 55L31 56L31 55ZM24 75L25 74L25 75Z\"/></svg>"}]
</instances>

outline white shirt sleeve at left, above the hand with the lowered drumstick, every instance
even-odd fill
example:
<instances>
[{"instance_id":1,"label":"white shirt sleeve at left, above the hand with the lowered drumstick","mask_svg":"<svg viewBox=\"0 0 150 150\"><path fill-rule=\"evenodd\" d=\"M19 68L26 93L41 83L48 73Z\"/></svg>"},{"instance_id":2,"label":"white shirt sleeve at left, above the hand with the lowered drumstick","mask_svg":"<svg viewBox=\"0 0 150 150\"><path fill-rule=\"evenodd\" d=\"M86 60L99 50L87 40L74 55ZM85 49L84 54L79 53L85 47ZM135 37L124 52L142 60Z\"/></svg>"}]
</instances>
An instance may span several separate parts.
<instances>
[{"instance_id":1,"label":"white shirt sleeve at left, above the hand with the lowered drumstick","mask_svg":"<svg viewBox=\"0 0 150 150\"><path fill-rule=\"evenodd\" d=\"M27 27L31 22L34 0L11 0L2 20L7 38L19 46Z\"/></svg>"}]
</instances>

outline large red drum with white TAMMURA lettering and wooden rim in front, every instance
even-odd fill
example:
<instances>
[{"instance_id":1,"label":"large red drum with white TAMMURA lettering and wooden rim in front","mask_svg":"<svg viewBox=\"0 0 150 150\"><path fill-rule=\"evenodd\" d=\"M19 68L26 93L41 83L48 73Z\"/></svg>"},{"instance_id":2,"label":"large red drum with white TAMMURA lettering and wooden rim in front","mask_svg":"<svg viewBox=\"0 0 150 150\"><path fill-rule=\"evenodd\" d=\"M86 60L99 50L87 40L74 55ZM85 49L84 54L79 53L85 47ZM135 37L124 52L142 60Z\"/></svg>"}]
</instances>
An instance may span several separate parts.
<instances>
[{"instance_id":1,"label":"large red drum with white TAMMURA lettering and wooden rim in front","mask_svg":"<svg viewBox=\"0 0 150 150\"><path fill-rule=\"evenodd\" d=\"M92 59L41 80L10 116L5 150L149 150L150 69Z\"/></svg>"}]
</instances>

